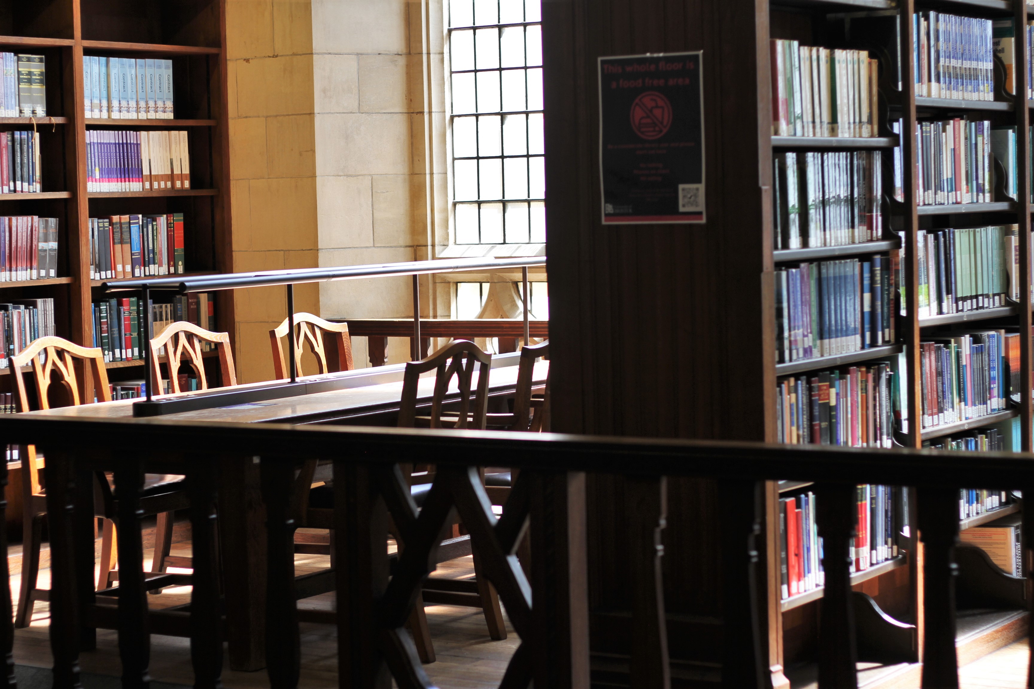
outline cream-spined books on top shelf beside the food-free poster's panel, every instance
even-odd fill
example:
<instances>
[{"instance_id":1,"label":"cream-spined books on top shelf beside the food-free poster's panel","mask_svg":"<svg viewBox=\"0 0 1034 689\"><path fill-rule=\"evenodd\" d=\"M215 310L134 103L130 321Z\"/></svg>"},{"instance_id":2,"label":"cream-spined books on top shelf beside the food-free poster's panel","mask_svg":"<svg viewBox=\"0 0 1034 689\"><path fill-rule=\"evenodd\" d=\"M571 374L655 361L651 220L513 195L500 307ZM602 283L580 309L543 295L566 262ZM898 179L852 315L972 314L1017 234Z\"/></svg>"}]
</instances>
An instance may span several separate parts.
<instances>
[{"instance_id":1,"label":"cream-spined books on top shelf beside the food-free poster's panel","mask_svg":"<svg viewBox=\"0 0 1034 689\"><path fill-rule=\"evenodd\" d=\"M771 40L772 134L878 135L879 62L866 51Z\"/></svg>"}]
</instances>

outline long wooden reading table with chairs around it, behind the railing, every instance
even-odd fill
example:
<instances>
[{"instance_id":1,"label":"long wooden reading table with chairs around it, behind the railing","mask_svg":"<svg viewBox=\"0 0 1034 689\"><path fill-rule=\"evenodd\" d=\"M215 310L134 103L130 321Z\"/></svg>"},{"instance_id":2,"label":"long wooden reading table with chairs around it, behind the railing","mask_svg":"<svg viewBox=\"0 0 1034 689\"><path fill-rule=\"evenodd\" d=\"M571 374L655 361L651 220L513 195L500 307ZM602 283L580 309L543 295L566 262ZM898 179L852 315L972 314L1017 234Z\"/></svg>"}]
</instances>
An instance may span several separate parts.
<instances>
[{"instance_id":1,"label":"long wooden reading table with chairs around it, behind the railing","mask_svg":"<svg viewBox=\"0 0 1034 689\"><path fill-rule=\"evenodd\" d=\"M516 387L518 357L497 357L501 364L491 371L490 395L505 399ZM512 361L512 363L511 363ZM544 382L548 372L548 362L536 365L534 380ZM381 370L364 374L363 371L348 372L348 375L363 382L363 375L378 380L372 385L361 385L346 389L336 389L301 397L268 400L231 405L199 411L188 411L163 416L163 418L196 421L237 422L288 422L288 424L348 424L364 426L394 425L394 414L398 411L402 396L402 371L404 365L383 367ZM320 379L326 376L309 376ZM397 378L397 380L391 380ZM300 378L306 380L306 378ZM455 383L455 381L454 381ZM263 383L266 384L266 383ZM476 381L472 384L476 385ZM432 376L422 378L418 393L418 405L429 404L434 387ZM455 384L450 395L456 393ZM181 394L183 397L193 394ZM173 396L170 396L173 397ZM447 398L448 399L448 398ZM132 400L118 400L79 407L64 407L47 411L26 412L26 415L50 418L119 418L132 422ZM185 439L188 440L188 439ZM117 439L113 439L117 444ZM220 480L218 487L219 541L222 553L225 587L225 635L230 651L230 666L239 670L256 670L265 666L266 644L266 510L260 486L258 458L220 457L218 459ZM156 467L165 473L176 473L176 467ZM86 533L80 529L78 533ZM52 543L52 550L57 544ZM92 553L92 543L89 552ZM77 552L85 553L81 544ZM100 628L117 628L117 619L112 610L85 613L87 625ZM154 614L151 631L172 635L189 635L186 614L177 617L171 614Z\"/></svg>"}]
</instances>

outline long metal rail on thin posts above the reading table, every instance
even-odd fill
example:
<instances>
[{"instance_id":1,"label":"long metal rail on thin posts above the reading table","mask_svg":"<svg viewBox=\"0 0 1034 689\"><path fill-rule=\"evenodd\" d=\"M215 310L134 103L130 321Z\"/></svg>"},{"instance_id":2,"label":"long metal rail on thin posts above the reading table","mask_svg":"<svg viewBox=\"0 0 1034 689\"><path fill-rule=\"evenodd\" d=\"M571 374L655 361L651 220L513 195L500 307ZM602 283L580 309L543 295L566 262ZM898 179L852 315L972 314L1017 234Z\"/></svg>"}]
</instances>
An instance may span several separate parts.
<instances>
[{"instance_id":1,"label":"long metal rail on thin posts above the reading table","mask_svg":"<svg viewBox=\"0 0 1034 689\"><path fill-rule=\"evenodd\" d=\"M153 337L151 324L151 310L147 305L151 301L151 290L175 291L178 294L188 292L217 291L220 289L237 289L239 287L273 287L286 285L287 287L287 338L288 356L291 358L291 381L294 384L298 381L298 367L295 363L295 285L312 282L331 282L334 280L356 280L360 278L384 278L399 277L403 275L413 276L413 358L420 358L420 282L421 275L436 275L438 273L459 273L463 271L478 271L488 269L490 271L500 271L506 269L521 269L521 278L524 286L524 344L528 344L528 317L527 317L527 269L530 267L545 267L545 256L531 256L526 258L438 258L434 260L410 260L398 263L369 263L366 265L334 265L330 268L298 268L283 271L258 271L255 273L220 273L216 275L196 275L172 278L141 278L139 280L120 280L118 282L102 282L101 289L105 292L139 291L141 303L144 304L144 311L147 313L147 324L145 333L147 341L150 343ZM156 380L154 375L155 363L151 356L150 346L144 349L144 368L146 369L147 399L145 404L150 405L153 401L154 390L151 389L151 381ZM171 375L171 374L170 374ZM136 403L140 404L140 403ZM141 408L142 410L143 408ZM136 407L134 405L134 410Z\"/></svg>"}]
</instances>

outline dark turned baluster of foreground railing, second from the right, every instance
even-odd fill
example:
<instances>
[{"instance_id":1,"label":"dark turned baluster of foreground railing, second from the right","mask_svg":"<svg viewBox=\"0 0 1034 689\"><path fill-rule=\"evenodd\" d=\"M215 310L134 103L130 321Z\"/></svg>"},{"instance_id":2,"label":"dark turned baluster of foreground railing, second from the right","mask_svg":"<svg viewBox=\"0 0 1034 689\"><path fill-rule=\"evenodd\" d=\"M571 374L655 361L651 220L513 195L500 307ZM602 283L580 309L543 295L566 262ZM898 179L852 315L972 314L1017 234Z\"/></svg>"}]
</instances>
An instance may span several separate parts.
<instances>
[{"instance_id":1,"label":"dark turned baluster of foreground railing, second from the right","mask_svg":"<svg viewBox=\"0 0 1034 689\"><path fill-rule=\"evenodd\" d=\"M855 535L856 489L822 484L815 490L825 592L819 623L819 687L858 686L858 659L851 600L851 537Z\"/></svg>"}]
</instances>

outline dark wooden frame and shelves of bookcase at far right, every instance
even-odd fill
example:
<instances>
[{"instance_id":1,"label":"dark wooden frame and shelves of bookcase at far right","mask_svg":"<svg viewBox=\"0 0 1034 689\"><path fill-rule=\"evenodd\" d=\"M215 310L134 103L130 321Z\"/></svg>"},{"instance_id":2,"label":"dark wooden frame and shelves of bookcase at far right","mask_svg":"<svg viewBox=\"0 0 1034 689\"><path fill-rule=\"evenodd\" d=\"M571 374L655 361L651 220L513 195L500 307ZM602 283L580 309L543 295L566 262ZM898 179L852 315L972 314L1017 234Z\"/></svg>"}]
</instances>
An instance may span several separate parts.
<instances>
[{"instance_id":1,"label":"dark wooden frame and shelves of bookcase at far right","mask_svg":"<svg viewBox=\"0 0 1034 689\"><path fill-rule=\"evenodd\" d=\"M779 268L781 264L796 263L801 261L828 259L832 257L863 256L878 252L896 250L901 246L901 241L895 232L904 231L904 253L902 261L902 279L905 285L905 306L907 315L898 317L898 342L890 346L866 349L857 353L824 357L821 359L811 359L794 362L792 364L776 366L776 376L770 379L771 385L765 385L765 394L776 397L776 380L783 376L801 374L811 371L829 370L849 366L852 364L863 364L870 361L886 361L891 355L905 352L908 365L907 380L903 383L908 390L908 416L910 419L909 431L899 434L898 442L905 447L920 447L923 440L935 437L942 437L952 433L962 433L969 429L990 426L992 424L1014 418L1021 418L1022 427L1022 449L1031 450L1031 376L1021 376L1023 380L1022 402L1011 405L1006 411L992 415L979 417L966 422L952 425L950 427L938 427L927 431L919 430L918 419L921 416L921 369L920 352L917 346L919 342L930 338L938 328L950 327L966 323L966 326L994 326L1018 328L1022 343L1022 370L1031 371L1031 299L1030 299L1030 229L1031 229L1031 203L1029 194L1024 190L1030 188L1030 159L1028 146L1028 125L1029 109L1022 105L1023 99L1009 99L1010 94L1003 91L1003 70L996 70L996 100L995 101L960 101L937 98L917 98L912 80L913 74L913 53L911 35L911 18L913 12L925 9L933 9L964 17L975 17L981 19L1009 19L1012 18L1017 26L1014 39L1014 64L1025 64L1026 55L1026 26L1028 15L1034 18L1034 7L1023 4L1024 0L1013 2L1007 0L769 0L758 5L759 12L763 12L763 22L759 22L758 44L767 43L768 38L796 39L801 45L821 45L825 48L851 48L870 49L871 55L880 59L880 105L881 115L884 122L881 123L879 137L871 139L857 138L811 138L804 136L770 136L768 151L762 150L760 158L771 160L771 156L788 150L795 151L855 151L863 149L881 149L887 153L883 156L884 165L884 227L885 234L883 241L869 243L866 245L854 245L846 247L830 247L821 249L800 249L771 251L771 262L769 265ZM858 22L858 18L866 18L869 24ZM880 22L873 22L871 18L881 17ZM853 22L853 28L848 31L845 27ZM882 23L887 33L880 33L879 30L872 30L871 27ZM768 36L764 36L765 27ZM866 27L861 29L859 27ZM896 36L893 34L896 32ZM892 44L900 37L901 54L891 55L885 46ZM760 54L760 51L759 51ZM900 65L887 64L900 59ZM899 90L896 77L890 79L892 72L900 66L901 89ZM770 73L770 66L766 58L759 57L758 72L760 75ZM1024 69L1016 69L1015 89L1016 93L1027 92L1027 73ZM759 84L758 101L760 120L764 121L770 113L770 104L765 99L770 96L764 92ZM919 207L915 198L915 176L916 176L916 150L915 138L910 135L915 130L917 121L947 119L948 117L971 116L979 119L991 120L995 125L1015 125L1017 130L1017 188L1020 198L1003 199L996 197L996 202L966 205L965 207ZM770 118L769 118L770 119ZM902 140L896 136L889 135L891 120L901 120ZM762 139L765 137L762 136ZM894 147L901 147L903 160L903 187L904 202L891 200L893 194L892 181L893 156L889 155ZM764 140L762 140L764 149ZM766 156L766 154L768 154ZM764 164L764 162L762 162ZM770 162L768 164L771 164ZM769 170L770 174L770 170ZM768 209L768 217L771 217L771 209ZM1020 269L1020 293L1021 300L1017 304L984 311L967 312L937 316L934 318L919 319L918 314L918 289L917 289L917 231L926 228L937 227L979 227L985 225L1018 224L1021 243L1021 269ZM891 231L892 230L892 231ZM766 243L766 246L772 246ZM1024 259L1023 256L1028 256ZM767 261L766 261L767 262ZM773 331L774 332L774 327ZM774 410L772 410L774 411ZM774 415L774 414L773 414ZM777 438L772 432L774 424L767 424L769 441ZM974 456L974 461L979 461ZM800 490L800 483L793 481L780 481L770 483L766 496L766 557L768 564L768 593L769 600L780 601L780 535L779 535L779 501L780 495L791 491ZM974 487L976 488L976 487ZM807 488L804 489L807 490ZM883 612L889 614L900 622L921 626L922 624L922 546L916 537L917 520L914 510L915 499L911 501L913 505L912 514L909 515L911 526L909 537L899 537L899 544L905 555L876 565L868 570L855 573L852 581L855 591L871 594L876 605ZM1017 506L1010 506L1006 509L998 510L981 518L967 520L961 524L961 528L970 528L986 523L993 519L1014 512ZM987 572L977 572L981 564L963 563L961 567L961 586L970 586L967 582L981 578L980 574ZM967 577L971 577L967 580ZM994 576L991 577L993 581ZM812 667L808 661L814 659L816 652L815 636L818 628L818 603L821 599L821 590L812 591L792 597L786 601L776 602L769 606L769 661L773 685L786 687L790 685L787 681L791 679L793 686L800 686L814 680L810 676ZM1021 601L1022 603L1022 601ZM1027 618L1026 613L1018 609L1005 609L1008 605L1003 605L1000 615L993 615L981 619L979 624L970 624L965 620L965 615L961 618L959 630L959 650L961 662L968 662L973 659L974 649L983 645L981 654L998 648L1009 640L1026 634ZM1023 605L1018 605L1023 607ZM917 686L918 664L916 660L920 657L921 651L916 648L917 634L915 629L903 630L892 628L874 615L864 605L856 606L857 630L859 635L859 660L877 660L872 657L879 653L871 648L866 649L869 640L877 637L895 637L898 639L896 653L891 651L889 655L882 658L882 662L887 663L887 667L868 670L859 674L859 685L875 687L904 682L906 686L910 679L909 675L916 678ZM980 626L982 625L982 626ZM979 628L977 628L979 627ZM868 637L868 638L866 638ZM911 644L910 644L911 641ZM886 649L884 649L886 652Z\"/></svg>"}]
</instances>

